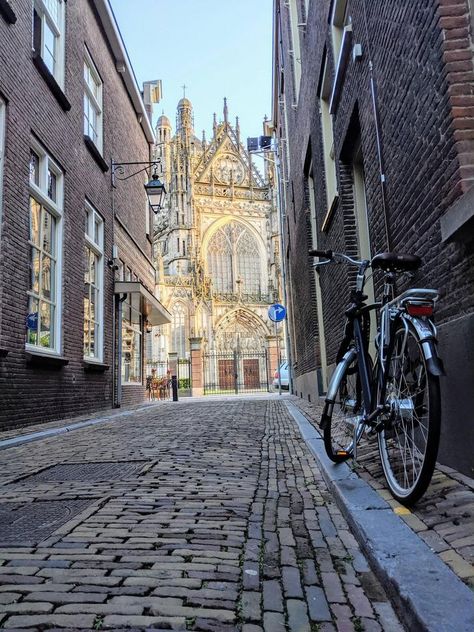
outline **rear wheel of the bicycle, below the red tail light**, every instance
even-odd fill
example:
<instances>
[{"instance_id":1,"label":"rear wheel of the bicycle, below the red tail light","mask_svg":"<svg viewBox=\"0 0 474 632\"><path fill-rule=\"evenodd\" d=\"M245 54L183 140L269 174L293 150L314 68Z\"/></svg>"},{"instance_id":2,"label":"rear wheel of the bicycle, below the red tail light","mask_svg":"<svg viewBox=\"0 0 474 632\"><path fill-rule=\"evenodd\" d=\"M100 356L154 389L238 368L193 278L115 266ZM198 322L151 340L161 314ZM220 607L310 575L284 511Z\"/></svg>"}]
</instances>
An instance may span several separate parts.
<instances>
[{"instance_id":1,"label":"rear wheel of the bicycle, below the red tail light","mask_svg":"<svg viewBox=\"0 0 474 632\"><path fill-rule=\"evenodd\" d=\"M402 338L406 333L403 347ZM395 332L388 359L385 402L390 412L378 436L382 468L393 497L413 505L428 488L438 455L441 428L439 378L429 373L415 328Z\"/></svg>"}]
</instances>

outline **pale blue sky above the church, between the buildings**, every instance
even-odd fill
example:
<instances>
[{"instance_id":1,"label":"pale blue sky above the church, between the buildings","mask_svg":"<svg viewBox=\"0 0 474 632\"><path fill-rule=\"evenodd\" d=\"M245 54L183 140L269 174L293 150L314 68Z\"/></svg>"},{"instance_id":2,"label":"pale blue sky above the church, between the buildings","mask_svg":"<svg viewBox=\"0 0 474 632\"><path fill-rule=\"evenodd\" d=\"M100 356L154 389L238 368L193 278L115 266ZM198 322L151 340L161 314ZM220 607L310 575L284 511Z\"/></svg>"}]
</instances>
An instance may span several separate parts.
<instances>
[{"instance_id":1,"label":"pale blue sky above the church, between the buildings","mask_svg":"<svg viewBox=\"0 0 474 632\"><path fill-rule=\"evenodd\" d=\"M212 135L212 115L238 116L241 137L260 136L271 116L272 0L110 0L140 88L161 79L164 110L176 127L183 96L194 109L195 134ZM245 141L244 141L245 144Z\"/></svg>"}]
</instances>

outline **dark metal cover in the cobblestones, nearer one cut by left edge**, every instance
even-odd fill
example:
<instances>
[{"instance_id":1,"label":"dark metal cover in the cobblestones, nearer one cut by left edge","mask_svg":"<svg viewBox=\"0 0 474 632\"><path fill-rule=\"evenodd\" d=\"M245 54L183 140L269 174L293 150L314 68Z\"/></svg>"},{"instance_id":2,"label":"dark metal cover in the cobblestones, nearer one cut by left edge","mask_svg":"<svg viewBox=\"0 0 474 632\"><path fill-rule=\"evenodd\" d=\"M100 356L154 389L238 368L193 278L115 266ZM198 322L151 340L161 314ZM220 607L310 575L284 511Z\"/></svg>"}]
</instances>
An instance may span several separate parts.
<instances>
[{"instance_id":1,"label":"dark metal cover in the cobblestones, nearer one cut by left edge","mask_svg":"<svg viewBox=\"0 0 474 632\"><path fill-rule=\"evenodd\" d=\"M0 546L33 546L45 540L93 501L47 500L0 505Z\"/></svg>"}]
</instances>

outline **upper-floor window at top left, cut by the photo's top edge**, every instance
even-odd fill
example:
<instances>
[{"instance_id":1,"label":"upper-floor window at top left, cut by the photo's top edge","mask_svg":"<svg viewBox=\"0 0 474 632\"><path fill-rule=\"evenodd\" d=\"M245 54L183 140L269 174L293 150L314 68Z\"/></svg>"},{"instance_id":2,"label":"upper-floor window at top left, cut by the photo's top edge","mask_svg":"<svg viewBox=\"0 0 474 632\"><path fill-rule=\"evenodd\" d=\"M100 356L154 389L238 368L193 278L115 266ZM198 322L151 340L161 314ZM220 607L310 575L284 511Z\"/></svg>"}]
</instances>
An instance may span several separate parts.
<instances>
[{"instance_id":1,"label":"upper-floor window at top left, cut by the photo's top edge","mask_svg":"<svg viewBox=\"0 0 474 632\"><path fill-rule=\"evenodd\" d=\"M64 0L34 0L33 48L64 87Z\"/></svg>"}]
</instances>

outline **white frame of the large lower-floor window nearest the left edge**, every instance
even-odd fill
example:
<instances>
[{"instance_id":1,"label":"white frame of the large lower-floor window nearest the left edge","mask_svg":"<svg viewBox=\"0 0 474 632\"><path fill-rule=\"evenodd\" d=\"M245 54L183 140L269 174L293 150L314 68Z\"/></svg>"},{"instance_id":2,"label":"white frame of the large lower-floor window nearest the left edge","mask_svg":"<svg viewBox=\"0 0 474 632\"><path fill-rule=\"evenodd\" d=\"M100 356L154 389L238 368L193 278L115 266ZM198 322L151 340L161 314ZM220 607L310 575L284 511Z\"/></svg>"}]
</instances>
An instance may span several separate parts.
<instances>
[{"instance_id":1,"label":"white frame of the large lower-floor window nearest the left edge","mask_svg":"<svg viewBox=\"0 0 474 632\"><path fill-rule=\"evenodd\" d=\"M57 163L51 158L46 150L35 139L31 140L31 150L39 158L38 184L29 179L30 197L34 198L38 204L44 207L56 220L55 230L55 271L53 275L54 299L48 301L54 304L55 312L53 319L53 345L43 347L40 344L25 342L25 348L32 351L41 351L44 354L59 355L62 345L61 315L62 315L62 261L63 261L63 205L64 205L64 174ZM51 171L56 176L56 201L48 196L48 172ZM30 214L30 208L28 208ZM29 218L31 221L31 218ZM28 239L29 246L33 242ZM42 252L42 248L41 248ZM41 255L40 255L41 256ZM28 297L41 300L41 292L37 296L33 290L27 290Z\"/></svg>"}]
</instances>

